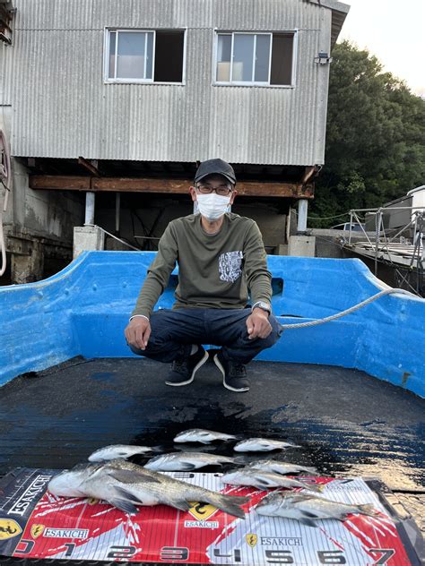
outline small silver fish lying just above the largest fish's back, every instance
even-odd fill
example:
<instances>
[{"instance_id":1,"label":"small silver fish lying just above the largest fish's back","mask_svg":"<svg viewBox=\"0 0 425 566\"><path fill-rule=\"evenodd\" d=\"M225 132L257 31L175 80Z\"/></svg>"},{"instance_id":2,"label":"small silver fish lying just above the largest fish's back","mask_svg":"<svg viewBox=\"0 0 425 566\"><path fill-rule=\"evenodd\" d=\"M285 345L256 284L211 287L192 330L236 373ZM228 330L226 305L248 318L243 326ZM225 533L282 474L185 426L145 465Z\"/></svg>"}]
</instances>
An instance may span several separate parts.
<instances>
[{"instance_id":1,"label":"small silver fish lying just above the largest fish's back","mask_svg":"<svg viewBox=\"0 0 425 566\"><path fill-rule=\"evenodd\" d=\"M170 452L160 454L150 459L143 467L161 472L193 470L204 466L221 466L234 464L233 458L219 454L204 454L204 452Z\"/></svg>"}]
</instances>

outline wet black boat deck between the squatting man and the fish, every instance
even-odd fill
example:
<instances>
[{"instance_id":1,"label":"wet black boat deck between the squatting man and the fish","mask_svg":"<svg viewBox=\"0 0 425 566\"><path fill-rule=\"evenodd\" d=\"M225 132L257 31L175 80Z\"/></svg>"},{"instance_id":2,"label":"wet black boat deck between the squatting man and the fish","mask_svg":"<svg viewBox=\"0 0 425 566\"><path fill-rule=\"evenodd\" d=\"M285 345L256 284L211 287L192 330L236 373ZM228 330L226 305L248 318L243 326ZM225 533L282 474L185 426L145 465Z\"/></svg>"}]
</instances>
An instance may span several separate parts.
<instances>
[{"instance_id":1,"label":"wet black boat deck between the squatting man and the fish","mask_svg":"<svg viewBox=\"0 0 425 566\"><path fill-rule=\"evenodd\" d=\"M168 371L147 359L74 358L7 383L0 396L0 474L72 467L108 444L170 451L179 431L209 428L293 441L300 448L277 457L324 475L377 477L425 531L423 399L331 366L255 362L248 366L251 390L242 394L222 387L213 364L181 388L165 385ZM193 450L230 454L232 446Z\"/></svg>"}]
</instances>

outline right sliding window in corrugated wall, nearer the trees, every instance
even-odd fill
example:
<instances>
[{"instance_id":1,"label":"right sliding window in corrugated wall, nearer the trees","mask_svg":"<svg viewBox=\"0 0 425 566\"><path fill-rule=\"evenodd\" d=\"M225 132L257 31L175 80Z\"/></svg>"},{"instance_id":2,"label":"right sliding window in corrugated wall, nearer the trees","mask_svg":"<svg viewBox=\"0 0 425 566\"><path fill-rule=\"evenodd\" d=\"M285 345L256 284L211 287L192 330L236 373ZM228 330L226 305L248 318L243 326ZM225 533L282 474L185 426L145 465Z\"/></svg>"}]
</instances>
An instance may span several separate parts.
<instances>
[{"instance_id":1,"label":"right sliding window in corrugated wall, nearer the trees","mask_svg":"<svg viewBox=\"0 0 425 566\"><path fill-rule=\"evenodd\" d=\"M291 86L293 32L217 34L218 84Z\"/></svg>"}]
</instances>

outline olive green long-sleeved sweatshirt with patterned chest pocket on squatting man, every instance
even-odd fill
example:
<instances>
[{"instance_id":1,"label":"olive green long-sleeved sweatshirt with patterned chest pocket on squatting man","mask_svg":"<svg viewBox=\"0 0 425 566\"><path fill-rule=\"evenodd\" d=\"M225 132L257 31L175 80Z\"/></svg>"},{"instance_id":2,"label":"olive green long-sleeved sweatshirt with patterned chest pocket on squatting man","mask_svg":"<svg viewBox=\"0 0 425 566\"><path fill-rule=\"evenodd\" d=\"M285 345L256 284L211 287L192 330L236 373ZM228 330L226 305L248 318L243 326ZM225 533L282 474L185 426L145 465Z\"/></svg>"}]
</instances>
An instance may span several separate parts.
<instances>
[{"instance_id":1,"label":"olive green long-sleeved sweatshirt with patterned chest pocket on squatting man","mask_svg":"<svg viewBox=\"0 0 425 566\"><path fill-rule=\"evenodd\" d=\"M172 220L160 238L158 253L148 269L132 316L148 318L169 275L178 263L177 308L236 308L271 302L272 275L267 270L265 246L252 219L224 215L221 229L207 234L201 215Z\"/></svg>"}]
</instances>

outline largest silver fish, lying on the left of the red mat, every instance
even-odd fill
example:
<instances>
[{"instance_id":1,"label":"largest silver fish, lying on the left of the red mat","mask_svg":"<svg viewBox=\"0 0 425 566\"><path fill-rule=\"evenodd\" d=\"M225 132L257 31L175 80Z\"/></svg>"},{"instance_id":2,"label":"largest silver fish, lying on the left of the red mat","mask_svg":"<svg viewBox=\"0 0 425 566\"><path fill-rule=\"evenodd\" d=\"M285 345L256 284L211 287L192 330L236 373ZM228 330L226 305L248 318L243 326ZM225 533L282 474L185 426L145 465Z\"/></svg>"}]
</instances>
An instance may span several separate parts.
<instances>
[{"instance_id":1,"label":"largest silver fish, lying on the left of the red mat","mask_svg":"<svg viewBox=\"0 0 425 566\"><path fill-rule=\"evenodd\" d=\"M187 511L195 502L204 502L243 519L242 505L249 501L249 497L190 485L125 459L78 464L54 476L48 483L48 491L56 496L100 499L129 514L137 512L136 505L164 504Z\"/></svg>"}]
</instances>

